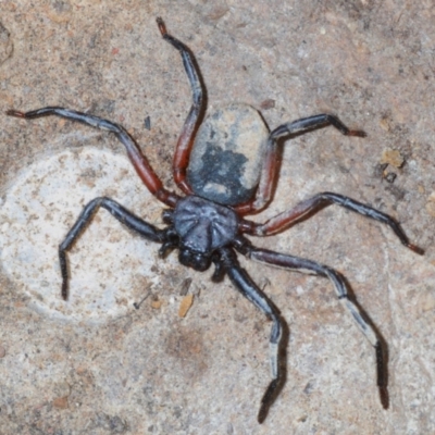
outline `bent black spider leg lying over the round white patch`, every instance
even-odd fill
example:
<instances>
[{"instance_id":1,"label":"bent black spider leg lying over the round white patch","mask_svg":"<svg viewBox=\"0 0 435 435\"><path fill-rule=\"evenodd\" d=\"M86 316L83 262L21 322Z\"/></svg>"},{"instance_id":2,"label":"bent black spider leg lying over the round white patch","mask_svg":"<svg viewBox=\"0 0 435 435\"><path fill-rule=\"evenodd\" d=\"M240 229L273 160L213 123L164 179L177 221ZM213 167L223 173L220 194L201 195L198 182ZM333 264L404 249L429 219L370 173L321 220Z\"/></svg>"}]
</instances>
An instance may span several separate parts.
<instances>
[{"instance_id":1,"label":"bent black spider leg lying over the round white patch","mask_svg":"<svg viewBox=\"0 0 435 435\"><path fill-rule=\"evenodd\" d=\"M122 224L139 233L147 240L163 243L166 239L166 232L164 229L158 229L153 225L142 221L140 217L136 216L112 199L104 197L92 199L84 207L77 221L59 246L59 262L62 273L62 298L64 300L67 299L69 295L69 264L66 260L66 251L77 240L78 236L89 224L94 214L100 207L108 210Z\"/></svg>"}]
</instances>

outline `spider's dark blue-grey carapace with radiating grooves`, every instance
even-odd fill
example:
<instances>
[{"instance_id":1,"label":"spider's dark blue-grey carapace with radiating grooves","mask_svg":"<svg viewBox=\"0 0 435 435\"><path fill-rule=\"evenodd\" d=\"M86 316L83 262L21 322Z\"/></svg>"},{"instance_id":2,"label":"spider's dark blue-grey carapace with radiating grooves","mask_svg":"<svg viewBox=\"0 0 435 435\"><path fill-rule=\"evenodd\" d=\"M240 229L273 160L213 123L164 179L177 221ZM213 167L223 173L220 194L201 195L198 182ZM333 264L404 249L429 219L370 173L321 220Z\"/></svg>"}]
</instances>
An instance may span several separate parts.
<instances>
[{"instance_id":1,"label":"spider's dark blue-grey carapace with radiating grooves","mask_svg":"<svg viewBox=\"0 0 435 435\"><path fill-rule=\"evenodd\" d=\"M227 207L188 196L175 208L174 226L184 247L209 253L234 239L238 219Z\"/></svg>"}]
</instances>

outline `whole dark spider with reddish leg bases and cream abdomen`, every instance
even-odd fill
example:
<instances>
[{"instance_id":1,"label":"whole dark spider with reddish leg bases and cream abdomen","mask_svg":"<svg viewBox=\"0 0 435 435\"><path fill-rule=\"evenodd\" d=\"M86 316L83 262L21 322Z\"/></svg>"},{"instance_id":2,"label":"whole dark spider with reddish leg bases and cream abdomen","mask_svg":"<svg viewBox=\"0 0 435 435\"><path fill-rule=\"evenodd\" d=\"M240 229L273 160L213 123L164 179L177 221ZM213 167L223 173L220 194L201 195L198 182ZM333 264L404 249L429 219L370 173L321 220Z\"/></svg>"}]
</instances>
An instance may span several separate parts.
<instances>
[{"instance_id":1,"label":"whole dark spider with reddish leg bases and cream abdomen","mask_svg":"<svg viewBox=\"0 0 435 435\"><path fill-rule=\"evenodd\" d=\"M96 198L85 206L59 246L62 298L67 300L69 296L70 269L66 253L100 207L145 239L162 244L159 250L161 258L173 249L178 249L178 260L185 266L202 272L213 264L214 272L211 276L213 282L219 282L227 275L236 289L272 320L270 335L272 381L260 403L258 421L262 423L284 383L284 364L279 361L279 352L285 345L283 340L285 322L271 299L239 265L236 252L272 266L328 278L356 325L375 348L380 398L383 407L388 408L386 361L381 335L349 296L344 276L334 269L312 260L258 248L245 237L245 235L262 237L276 234L309 217L323 207L337 204L388 225L406 247L422 254L423 250L409 241L394 217L364 203L328 191L318 194L264 223L245 219L248 214L263 210L272 200L279 167L278 142L290 136L327 125L334 126L346 136L365 137L365 133L349 129L338 117L331 114L319 114L285 123L270 132L259 112L245 104L231 104L216 110L202 122L202 114L206 111L206 90L194 54L186 45L166 32L162 18L158 17L157 24L163 39L179 51L192 94L192 104L173 160L174 181L185 194L184 197L163 187L139 146L119 124L60 107L47 107L30 112L16 110L7 112L8 115L22 119L57 115L114 133L124 144L136 172L148 190L169 207L162 214L166 226L158 228L107 197Z\"/></svg>"}]
</instances>

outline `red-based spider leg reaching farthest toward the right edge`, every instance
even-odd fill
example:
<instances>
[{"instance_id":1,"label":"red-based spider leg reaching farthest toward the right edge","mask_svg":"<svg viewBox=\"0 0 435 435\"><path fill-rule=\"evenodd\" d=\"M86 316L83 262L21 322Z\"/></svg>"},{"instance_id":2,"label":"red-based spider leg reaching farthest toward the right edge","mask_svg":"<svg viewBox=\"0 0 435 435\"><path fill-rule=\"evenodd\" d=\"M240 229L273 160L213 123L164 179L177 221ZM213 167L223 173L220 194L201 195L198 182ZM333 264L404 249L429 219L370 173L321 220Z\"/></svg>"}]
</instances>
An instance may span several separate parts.
<instances>
[{"instance_id":1,"label":"red-based spider leg reaching farthest toward the right edge","mask_svg":"<svg viewBox=\"0 0 435 435\"><path fill-rule=\"evenodd\" d=\"M321 207L330 206L333 203L388 225L407 248L413 250L419 254L424 253L421 248L409 241L409 238L394 217L376 209L373 209L372 207L358 202L355 199L350 199L343 195L333 194L330 191L318 194L314 197L303 202L300 202L295 208L277 214L265 223L243 221L243 231L256 236L269 236L271 234L275 234L288 228L290 225L319 210ZM244 225L246 225L246 227Z\"/></svg>"}]
</instances>

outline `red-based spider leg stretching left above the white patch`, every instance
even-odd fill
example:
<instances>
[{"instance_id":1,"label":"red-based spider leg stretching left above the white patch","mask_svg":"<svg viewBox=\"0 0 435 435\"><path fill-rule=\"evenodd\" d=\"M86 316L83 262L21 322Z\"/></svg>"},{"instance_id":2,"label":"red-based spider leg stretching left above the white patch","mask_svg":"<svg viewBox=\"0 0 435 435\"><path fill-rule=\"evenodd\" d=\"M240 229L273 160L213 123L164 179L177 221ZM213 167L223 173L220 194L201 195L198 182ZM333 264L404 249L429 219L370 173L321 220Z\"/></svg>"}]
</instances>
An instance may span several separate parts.
<instances>
[{"instance_id":1,"label":"red-based spider leg stretching left above the white patch","mask_svg":"<svg viewBox=\"0 0 435 435\"><path fill-rule=\"evenodd\" d=\"M33 120L36 117L55 115L64 117L70 121L77 121L82 124L90 125L96 128L105 129L112 132L116 137L124 144L129 160L132 161L135 170L144 184L148 187L148 190L154 195L160 201L170 207L175 207L179 197L163 187L162 182L157 176L156 172L149 164L147 158L140 151L140 148L135 142L133 137L126 132L124 127L115 124L111 121L103 120L98 116L89 115L87 113L77 112L75 110L49 107L33 110L30 112L20 112L17 110L8 110L9 116L23 117L26 120Z\"/></svg>"}]
</instances>

